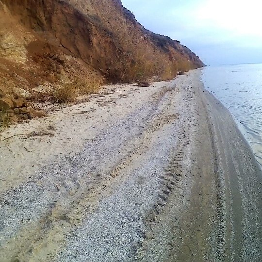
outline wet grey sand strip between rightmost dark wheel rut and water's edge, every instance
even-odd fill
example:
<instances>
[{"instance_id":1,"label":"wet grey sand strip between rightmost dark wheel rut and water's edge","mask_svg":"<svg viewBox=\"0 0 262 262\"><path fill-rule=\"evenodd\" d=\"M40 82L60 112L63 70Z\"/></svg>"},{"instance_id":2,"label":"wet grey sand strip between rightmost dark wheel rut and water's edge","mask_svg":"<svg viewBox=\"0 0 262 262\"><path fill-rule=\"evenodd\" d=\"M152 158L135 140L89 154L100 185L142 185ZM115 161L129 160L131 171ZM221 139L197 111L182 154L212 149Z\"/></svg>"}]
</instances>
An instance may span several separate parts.
<instances>
[{"instance_id":1,"label":"wet grey sand strip between rightmost dark wheel rut and water's edge","mask_svg":"<svg viewBox=\"0 0 262 262\"><path fill-rule=\"evenodd\" d=\"M202 93L216 148L217 173L224 197L222 213L228 220L224 225L224 245L228 249L222 257L226 261L259 261L262 256L259 247L262 238L261 166L229 110L209 91L204 89Z\"/></svg>"}]
</instances>

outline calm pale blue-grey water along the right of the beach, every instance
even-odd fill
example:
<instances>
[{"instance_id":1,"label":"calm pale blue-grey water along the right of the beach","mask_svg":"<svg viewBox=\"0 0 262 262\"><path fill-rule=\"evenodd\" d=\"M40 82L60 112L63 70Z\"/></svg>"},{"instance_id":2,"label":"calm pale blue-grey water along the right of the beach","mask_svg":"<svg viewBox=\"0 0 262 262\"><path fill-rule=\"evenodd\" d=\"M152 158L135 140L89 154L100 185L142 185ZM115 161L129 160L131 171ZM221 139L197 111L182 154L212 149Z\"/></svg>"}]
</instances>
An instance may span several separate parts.
<instances>
[{"instance_id":1,"label":"calm pale blue-grey water along the right of the beach","mask_svg":"<svg viewBox=\"0 0 262 262\"><path fill-rule=\"evenodd\" d=\"M262 165L262 64L209 66L202 72L205 88L229 109Z\"/></svg>"}]
</instances>

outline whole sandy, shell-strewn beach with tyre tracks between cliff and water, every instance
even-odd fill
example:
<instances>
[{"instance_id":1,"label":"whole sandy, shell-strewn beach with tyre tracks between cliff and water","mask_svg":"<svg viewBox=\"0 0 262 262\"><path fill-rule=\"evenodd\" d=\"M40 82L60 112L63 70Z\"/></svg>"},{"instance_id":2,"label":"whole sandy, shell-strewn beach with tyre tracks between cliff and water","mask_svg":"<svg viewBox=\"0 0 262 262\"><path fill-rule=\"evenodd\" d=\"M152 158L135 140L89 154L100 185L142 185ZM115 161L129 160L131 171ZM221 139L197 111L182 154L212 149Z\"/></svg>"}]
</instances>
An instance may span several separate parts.
<instances>
[{"instance_id":1,"label":"whole sandy, shell-strewn beach with tyre tracks between cliff and water","mask_svg":"<svg viewBox=\"0 0 262 262\"><path fill-rule=\"evenodd\" d=\"M260 262L262 171L193 70L0 136L0 262Z\"/></svg>"}]
</instances>

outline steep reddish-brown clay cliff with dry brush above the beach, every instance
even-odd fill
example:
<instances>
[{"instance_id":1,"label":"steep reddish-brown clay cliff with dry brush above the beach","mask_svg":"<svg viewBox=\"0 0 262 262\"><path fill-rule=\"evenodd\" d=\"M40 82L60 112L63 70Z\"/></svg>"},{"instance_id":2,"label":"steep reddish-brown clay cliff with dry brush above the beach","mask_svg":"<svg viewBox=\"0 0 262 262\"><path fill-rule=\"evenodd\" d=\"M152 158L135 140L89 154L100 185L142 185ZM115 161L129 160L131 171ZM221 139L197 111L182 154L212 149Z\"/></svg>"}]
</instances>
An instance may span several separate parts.
<instances>
[{"instance_id":1,"label":"steep reddish-brown clay cliff with dry brush above the beach","mask_svg":"<svg viewBox=\"0 0 262 262\"><path fill-rule=\"evenodd\" d=\"M26 99L57 79L171 79L204 66L179 41L146 30L120 0L0 0L0 17L0 108L25 118Z\"/></svg>"}]
</instances>

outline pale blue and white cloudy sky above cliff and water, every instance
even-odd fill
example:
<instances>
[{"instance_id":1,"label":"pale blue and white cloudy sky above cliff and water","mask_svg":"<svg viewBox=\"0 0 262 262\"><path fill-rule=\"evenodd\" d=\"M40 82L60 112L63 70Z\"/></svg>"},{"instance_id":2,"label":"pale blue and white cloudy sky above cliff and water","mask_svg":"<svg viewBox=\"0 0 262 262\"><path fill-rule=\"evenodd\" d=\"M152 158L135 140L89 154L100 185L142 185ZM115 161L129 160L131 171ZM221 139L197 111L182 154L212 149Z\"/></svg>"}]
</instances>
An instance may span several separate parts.
<instances>
[{"instance_id":1,"label":"pale blue and white cloudy sky above cliff and water","mask_svg":"<svg viewBox=\"0 0 262 262\"><path fill-rule=\"evenodd\" d=\"M262 63L262 0L122 0L145 28L207 65Z\"/></svg>"}]
</instances>

